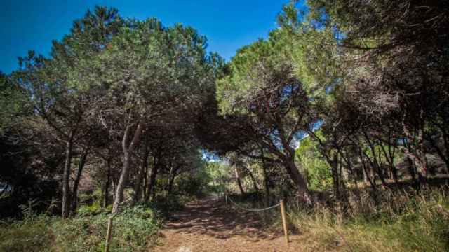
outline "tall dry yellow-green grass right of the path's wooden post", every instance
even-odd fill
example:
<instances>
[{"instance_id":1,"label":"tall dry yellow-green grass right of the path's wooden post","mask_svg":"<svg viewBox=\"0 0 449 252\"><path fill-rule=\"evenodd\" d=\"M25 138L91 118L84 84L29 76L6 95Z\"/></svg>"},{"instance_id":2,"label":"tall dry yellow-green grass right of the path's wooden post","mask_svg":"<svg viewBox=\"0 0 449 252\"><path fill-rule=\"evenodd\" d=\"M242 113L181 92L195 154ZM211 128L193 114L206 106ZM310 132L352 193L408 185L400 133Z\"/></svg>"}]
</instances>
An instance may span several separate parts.
<instances>
[{"instance_id":1,"label":"tall dry yellow-green grass right of the path's wooden post","mask_svg":"<svg viewBox=\"0 0 449 252\"><path fill-rule=\"evenodd\" d=\"M419 194L377 192L352 195L350 206L290 207L306 251L449 251L446 188Z\"/></svg>"}]
</instances>

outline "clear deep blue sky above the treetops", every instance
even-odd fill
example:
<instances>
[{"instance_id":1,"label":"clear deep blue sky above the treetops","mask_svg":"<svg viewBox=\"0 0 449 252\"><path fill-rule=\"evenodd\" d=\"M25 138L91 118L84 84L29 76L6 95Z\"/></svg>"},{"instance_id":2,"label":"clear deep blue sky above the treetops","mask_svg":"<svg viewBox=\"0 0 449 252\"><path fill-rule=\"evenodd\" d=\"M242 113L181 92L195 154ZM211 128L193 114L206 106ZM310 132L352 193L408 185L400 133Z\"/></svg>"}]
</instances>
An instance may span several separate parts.
<instances>
[{"instance_id":1,"label":"clear deep blue sky above the treetops","mask_svg":"<svg viewBox=\"0 0 449 252\"><path fill-rule=\"evenodd\" d=\"M276 15L288 0L147 0L64 1L1 0L0 71L18 67L28 50L48 55L53 39L69 32L72 22L95 5L119 9L125 18L159 18L164 25L180 22L208 38L208 50L230 59L243 45L266 38L276 28Z\"/></svg>"}]
</instances>

